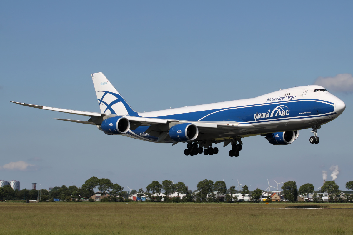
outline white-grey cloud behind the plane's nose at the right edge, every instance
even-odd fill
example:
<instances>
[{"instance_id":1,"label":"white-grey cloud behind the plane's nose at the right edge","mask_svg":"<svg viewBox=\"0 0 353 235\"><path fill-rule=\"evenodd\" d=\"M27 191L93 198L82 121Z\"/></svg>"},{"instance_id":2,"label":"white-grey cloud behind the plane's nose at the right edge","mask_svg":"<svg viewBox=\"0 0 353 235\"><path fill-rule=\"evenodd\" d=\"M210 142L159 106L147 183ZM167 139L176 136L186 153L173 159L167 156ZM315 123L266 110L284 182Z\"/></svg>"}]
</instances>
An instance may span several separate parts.
<instances>
[{"instance_id":1,"label":"white-grey cloud behind the plane's nose at the right edge","mask_svg":"<svg viewBox=\"0 0 353 235\"><path fill-rule=\"evenodd\" d=\"M320 85L329 91L353 92L353 77L350 73L340 73L335 77L318 77L314 85Z\"/></svg>"}]
</instances>

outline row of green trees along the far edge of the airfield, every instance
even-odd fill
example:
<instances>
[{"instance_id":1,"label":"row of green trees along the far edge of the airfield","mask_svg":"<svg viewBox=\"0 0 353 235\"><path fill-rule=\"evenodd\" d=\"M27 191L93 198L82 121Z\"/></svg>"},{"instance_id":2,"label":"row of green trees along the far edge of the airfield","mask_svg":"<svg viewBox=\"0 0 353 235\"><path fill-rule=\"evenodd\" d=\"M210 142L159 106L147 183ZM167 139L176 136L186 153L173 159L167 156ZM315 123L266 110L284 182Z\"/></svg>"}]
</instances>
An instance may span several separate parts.
<instances>
[{"instance_id":1,"label":"row of green trees along the far edge of the airfield","mask_svg":"<svg viewBox=\"0 0 353 235\"><path fill-rule=\"evenodd\" d=\"M95 189L98 189L99 192L95 192ZM353 181L346 183L346 188L353 190ZM0 187L0 199L1 200L40 200L40 201L53 201L54 198L59 198L60 200L66 201L76 201L81 198L89 198L90 201L94 201L90 197L95 193L108 193L108 197L104 197L101 201L128 201L128 197L132 194L138 193L138 197L143 197L147 195L149 201L164 201L164 202L218 202L220 201L219 195L224 195L224 200L226 202L238 201L237 197L233 195L238 193L236 187L230 186L227 188L224 181L212 180L203 180L198 182L197 190L191 191L185 185L184 182L173 183L171 180L164 180L162 183L154 180L152 181L144 191L143 188L140 188L139 191L132 190L131 192L124 191L124 187L121 187L117 183L112 183L109 179L102 178L98 179L97 177L91 177L86 180L81 187L75 185L66 187L62 185L61 187L54 187L52 190L48 191L46 189L22 189L20 191L13 190L10 185L5 185ZM314 191L314 186L311 183L305 183L297 189L295 181L287 181L283 183L281 187L283 197L285 200L290 202L297 201L298 195L305 195L305 199L309 201L309 193L313 193L313 201L321 202L323 201L323 192L327 192L329 201L336 202L353 202L353 194L346 193L344 197L340 197L342 191L339 190L339 186L335 181L326 181L321 187L321 190L318 192ZM177 193L177 197L169 198L169 194ZM315 193L314 193L315 192ZM160 193L163 193L165 196L161 196ZM250 195L250 200L253 202L259 201L262 199L262 190L256 188L253 191L249 191L247 185L241 187L243 198L246 195ZM352 192L353 193L353 192ZM183 194L182 199L180 195ZM270 201L270 197L267 198Z\"/></svg>"}]
</instances>

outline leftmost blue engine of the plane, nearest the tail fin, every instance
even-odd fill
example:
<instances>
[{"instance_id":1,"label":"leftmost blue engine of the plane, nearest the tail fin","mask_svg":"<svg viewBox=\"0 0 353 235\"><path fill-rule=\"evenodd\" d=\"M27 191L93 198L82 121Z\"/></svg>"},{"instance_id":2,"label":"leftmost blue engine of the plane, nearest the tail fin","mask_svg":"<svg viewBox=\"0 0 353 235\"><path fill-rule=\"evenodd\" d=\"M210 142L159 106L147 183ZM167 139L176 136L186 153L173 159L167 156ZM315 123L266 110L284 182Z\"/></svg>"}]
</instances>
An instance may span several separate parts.
<instances>
[{"instance_id":1,"label":"leftmost blue engine of the plane, nearest the tail fin","mask_svg":"<svg viewBox=\"0 0 353 235\"><path fill-rule=\"evenodd\" d=\"M127 118L115 116L102 122L102 130L108 135L121 135L130 130L130 121Z\"/></svg>"}]
</instances>

